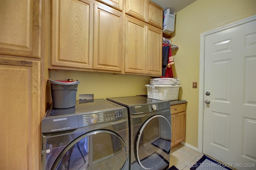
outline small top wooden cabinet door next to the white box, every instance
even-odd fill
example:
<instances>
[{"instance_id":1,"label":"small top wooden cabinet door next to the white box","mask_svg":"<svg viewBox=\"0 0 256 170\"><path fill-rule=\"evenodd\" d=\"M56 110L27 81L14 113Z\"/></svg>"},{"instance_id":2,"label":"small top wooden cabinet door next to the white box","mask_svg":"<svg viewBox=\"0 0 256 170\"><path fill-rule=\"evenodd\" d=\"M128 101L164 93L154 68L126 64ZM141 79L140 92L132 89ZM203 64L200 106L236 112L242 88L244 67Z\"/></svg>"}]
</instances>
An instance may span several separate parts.
<instances>
[{"instance_id":1,"label":"small top wooden cabinet door next to the white box","mask_svg":"<svg viewBox=\"0 0 256 170\"><path fill-rule=\"evenodd\" d=\"M148 2L148 23L163 28L163 9L152 1Z\"/></svg>"}]
</instances>

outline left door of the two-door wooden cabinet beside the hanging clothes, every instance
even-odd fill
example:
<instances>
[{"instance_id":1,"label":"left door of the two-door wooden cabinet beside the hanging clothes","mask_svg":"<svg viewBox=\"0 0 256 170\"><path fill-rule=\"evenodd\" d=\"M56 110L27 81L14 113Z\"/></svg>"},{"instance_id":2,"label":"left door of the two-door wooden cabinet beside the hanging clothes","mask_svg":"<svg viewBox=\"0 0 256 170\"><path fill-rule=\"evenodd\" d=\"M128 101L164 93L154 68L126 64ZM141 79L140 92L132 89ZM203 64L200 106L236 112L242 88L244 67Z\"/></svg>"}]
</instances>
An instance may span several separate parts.
<instances>
[{"instance_id":1,"label":"left door of the two-door wooden cabinet beside the hanging clothes","mask_svg":"<svg viewBox=\"0 0 256 170\"><path fill-rule=\"evenodd\" d=\"M125 72L146 73L146 30L139 20L125 19Z\"/></svg>"}]
</instances>

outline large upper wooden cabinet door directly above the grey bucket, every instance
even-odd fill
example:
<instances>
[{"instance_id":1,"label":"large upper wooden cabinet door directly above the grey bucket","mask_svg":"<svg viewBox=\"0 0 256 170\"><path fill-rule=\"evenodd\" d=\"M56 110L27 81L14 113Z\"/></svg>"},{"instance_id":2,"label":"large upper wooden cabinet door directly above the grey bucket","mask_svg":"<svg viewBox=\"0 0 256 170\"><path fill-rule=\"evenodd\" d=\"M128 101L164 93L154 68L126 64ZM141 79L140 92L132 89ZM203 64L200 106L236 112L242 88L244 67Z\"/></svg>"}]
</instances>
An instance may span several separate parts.
<instances>
[{"instance_id":1,"label":"large upper wooden cabinet door directly above the grey bucket","mask_svg":"<svg viewBox=\"0 0 256 170\"><path fill-rule=\"evenodd\" d=\"M53 66L92 68L90 1L52 0Z\"/></svg>"}]
</instances>

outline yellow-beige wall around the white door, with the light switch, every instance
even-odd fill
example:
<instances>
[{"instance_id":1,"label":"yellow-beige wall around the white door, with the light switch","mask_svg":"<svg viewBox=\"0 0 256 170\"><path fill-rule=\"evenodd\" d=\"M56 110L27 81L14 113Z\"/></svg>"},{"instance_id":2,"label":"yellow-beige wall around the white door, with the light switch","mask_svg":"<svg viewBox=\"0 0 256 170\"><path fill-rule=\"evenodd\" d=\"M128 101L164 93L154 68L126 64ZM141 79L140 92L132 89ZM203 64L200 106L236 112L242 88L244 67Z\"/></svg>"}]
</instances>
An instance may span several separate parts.
<instances>
[{"instance_id":1,"label":"yellow-beige wall around the white door, with the light switch","mask_svg":"<svg viewBox=\"0 0 256 170\"><path fill-rule=\"evenodd\" d=\"M198 92L200 34L256 14L256 0L197 0L176 14L172 43L179 49L174 54L174 75L180 78L179 99L188 101L186 143L198 147Z\"/></svg>"}]
</instances>

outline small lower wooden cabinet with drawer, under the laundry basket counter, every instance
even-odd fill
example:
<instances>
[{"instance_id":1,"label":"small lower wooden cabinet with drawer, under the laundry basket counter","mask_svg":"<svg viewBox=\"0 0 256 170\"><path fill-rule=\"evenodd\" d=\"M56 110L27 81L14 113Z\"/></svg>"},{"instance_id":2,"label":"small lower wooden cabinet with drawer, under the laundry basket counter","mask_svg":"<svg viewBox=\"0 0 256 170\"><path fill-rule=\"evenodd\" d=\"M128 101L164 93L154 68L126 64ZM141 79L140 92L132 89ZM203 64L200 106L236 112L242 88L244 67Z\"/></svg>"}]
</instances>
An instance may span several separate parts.
<instances>
[{"instance_id":1,"label":"small lower wooden cabinet with drawer, under the laundry basket counter","mask_svg":"<svg viewBox=\"0 0 256 170\"><path fill-rule=\"evenodd\" d=\"M171 106L172 147L184 141L186 137L186 104Z\"/></svg>"}]
</instances>

